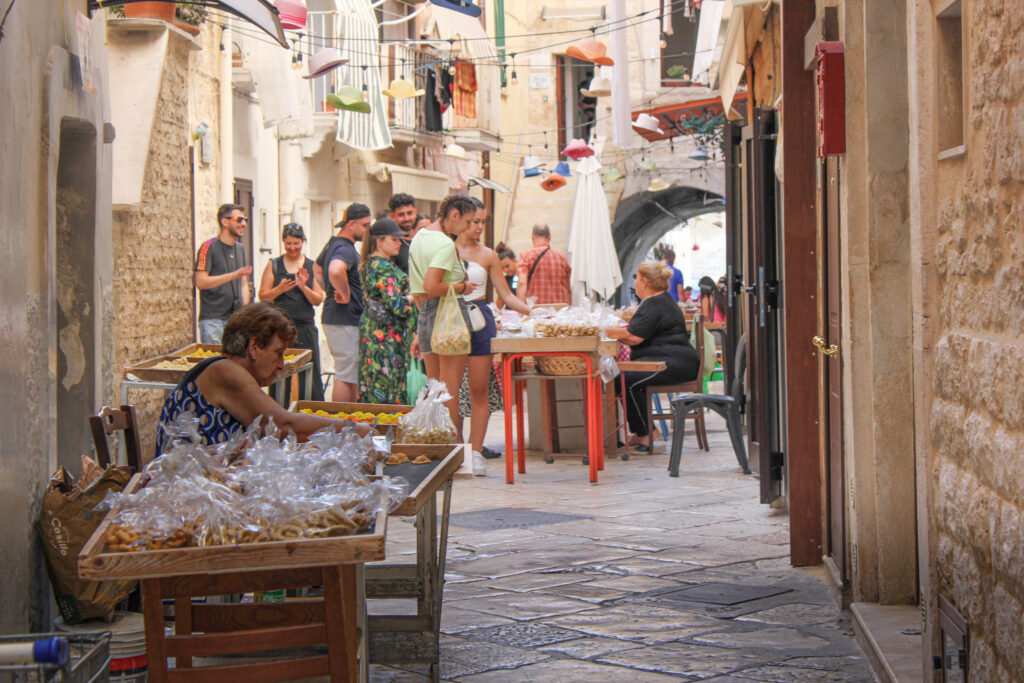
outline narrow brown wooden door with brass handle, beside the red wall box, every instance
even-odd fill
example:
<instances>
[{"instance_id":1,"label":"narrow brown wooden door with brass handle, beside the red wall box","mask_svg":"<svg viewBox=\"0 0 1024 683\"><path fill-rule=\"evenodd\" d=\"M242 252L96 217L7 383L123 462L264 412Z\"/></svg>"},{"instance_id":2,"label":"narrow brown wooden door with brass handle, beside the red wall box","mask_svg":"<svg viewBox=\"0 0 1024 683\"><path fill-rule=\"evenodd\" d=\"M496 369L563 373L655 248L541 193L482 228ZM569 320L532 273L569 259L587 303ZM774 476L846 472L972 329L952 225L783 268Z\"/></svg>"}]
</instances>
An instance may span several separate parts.
<instances>
[{"instance_id":1,"label":"narrow brown wooden door with brass handle, beside the red wall box","mask_svg":"<svg viewBox=\"0 0 1024 683\"><path fill-rule=\"evenodd\" d=\"M846 566L846 475L843 466L843 356L840 351L842 330L840 290L840 211L839 161L827 157L821 164L821 233L823 268L820 273L823 307L820 318L825 326L821 335L822 361L821 391L824 400L825 447L825 499L826 525L825 556L833 579L844 586L849 575Z\"/></svg>"}]
</instances>

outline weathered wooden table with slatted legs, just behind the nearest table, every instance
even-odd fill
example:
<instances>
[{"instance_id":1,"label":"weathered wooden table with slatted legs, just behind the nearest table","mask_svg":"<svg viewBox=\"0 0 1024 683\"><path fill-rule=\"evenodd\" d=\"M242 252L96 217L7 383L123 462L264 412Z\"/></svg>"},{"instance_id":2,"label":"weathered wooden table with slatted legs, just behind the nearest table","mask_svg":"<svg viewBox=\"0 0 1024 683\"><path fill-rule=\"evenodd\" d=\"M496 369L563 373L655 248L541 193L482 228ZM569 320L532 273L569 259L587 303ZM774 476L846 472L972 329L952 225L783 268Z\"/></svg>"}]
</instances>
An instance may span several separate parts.
<instances>
[{"instance_id":1,"label":"weathered wooden table with slatted legs, just behind the nearest table","mask_svg":"<svg viewBox=\"0 0 1024 683\"><path fill-rule=\"evenodd\" d=\"M411 459L426 455L428 465L388 465L387 476L402 476L411 490L392 516L416 516L416 564L372 564L366 568L367 598L415 598L415 614L368 616L369 660L372 664L427 664L432 681L440 680L441 600L452 511L452 477L469 457L468 445L393 443L392 453ZM443 493L440 528L437 494Z\"/></svg>"}]
</instances>

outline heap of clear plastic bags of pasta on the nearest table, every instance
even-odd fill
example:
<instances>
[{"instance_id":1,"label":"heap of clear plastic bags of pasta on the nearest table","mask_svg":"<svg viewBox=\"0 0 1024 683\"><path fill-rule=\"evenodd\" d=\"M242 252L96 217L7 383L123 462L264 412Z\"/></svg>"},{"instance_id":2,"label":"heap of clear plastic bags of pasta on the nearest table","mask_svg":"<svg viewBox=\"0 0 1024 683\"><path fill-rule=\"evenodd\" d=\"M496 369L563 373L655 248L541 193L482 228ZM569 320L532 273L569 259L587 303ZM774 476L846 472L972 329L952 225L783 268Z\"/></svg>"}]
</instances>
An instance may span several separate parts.
<instances>
[{"instance_id":1,"label":"heap of clear plastic bags of pasta on the nearest table","mask_svg":"<svg viewBox=\"0 0 1024 683\"><path fill-rule=\"evenodd\" d=\"M190 417L190 416L188 416ZM172 428L188 432L188 417ZM356 533L394 510L409 484L372 476L386 457L353 428L328 428L306 443L272 421L206 446L186 438L145 468L146 485L109 494L112 551L256 543Z\"/></svg>"}]
</instances>

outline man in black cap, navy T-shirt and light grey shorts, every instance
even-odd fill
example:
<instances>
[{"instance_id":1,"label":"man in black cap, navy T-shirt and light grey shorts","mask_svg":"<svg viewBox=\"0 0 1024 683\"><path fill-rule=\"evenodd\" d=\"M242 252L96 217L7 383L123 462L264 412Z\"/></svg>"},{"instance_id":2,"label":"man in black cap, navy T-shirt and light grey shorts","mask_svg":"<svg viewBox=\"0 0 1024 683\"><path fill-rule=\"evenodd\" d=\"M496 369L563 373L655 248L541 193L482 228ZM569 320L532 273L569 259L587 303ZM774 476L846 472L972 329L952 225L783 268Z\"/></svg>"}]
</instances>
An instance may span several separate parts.
<instances>
[{"instance_id":1,"label":"man in black cap, navy T-shirt and light grey shorts","mask_svg":"<svg viewBox=\"0 0 1024 683\"><path fill-rule=\"evenodd\" d=\"M326 295L321 325L334 356L332 399L336 401L355 400L362 315L359 253L355 243L362 240L371 220L370 207L349 204L344 217L335 225L338 233L328 241L313 268Z\"/></svg>"}]
</instances>

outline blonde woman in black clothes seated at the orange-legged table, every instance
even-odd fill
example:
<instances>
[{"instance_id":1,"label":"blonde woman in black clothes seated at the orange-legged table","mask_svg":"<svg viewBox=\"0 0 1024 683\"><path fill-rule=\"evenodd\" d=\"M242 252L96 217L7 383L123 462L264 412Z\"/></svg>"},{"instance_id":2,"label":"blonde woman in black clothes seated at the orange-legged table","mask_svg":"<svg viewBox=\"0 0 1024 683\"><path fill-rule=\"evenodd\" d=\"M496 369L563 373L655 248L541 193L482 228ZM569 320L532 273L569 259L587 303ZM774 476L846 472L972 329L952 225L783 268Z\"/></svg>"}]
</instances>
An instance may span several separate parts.
<instances>
[{"instance_id":1,"label":"blonde woman in black clothes seated at the orange-legged table","mask_svg":"<svg viewBox=\"0 0 1024 683\"><path fill-rule=\"evenodd\" d=\"M650 453L651 434L647 423L648 386L680 384L696 379L700 359L690 345L686 318L669 295L672 269L660 261L647 261L637 269L636 289L640 306L629 327L608 328L605 335L631 348L633 360L663 360L657 373L626 373L626 417L633 444L639 453ZM618 384L615 385L616 388Z\"/></svg>"}]
</instances>

